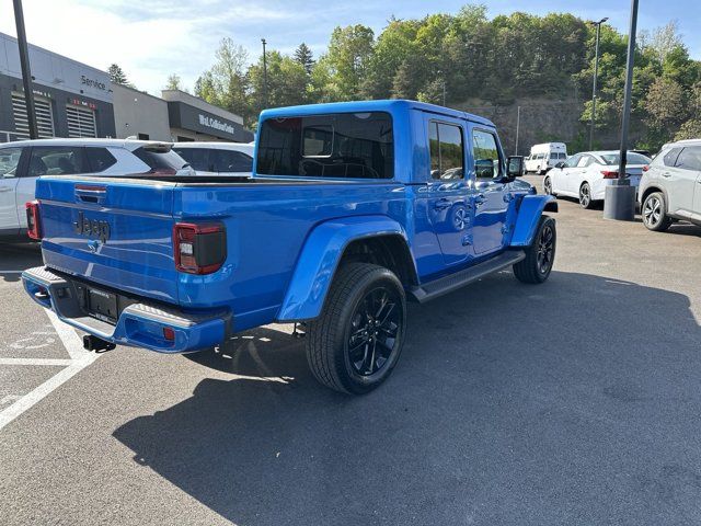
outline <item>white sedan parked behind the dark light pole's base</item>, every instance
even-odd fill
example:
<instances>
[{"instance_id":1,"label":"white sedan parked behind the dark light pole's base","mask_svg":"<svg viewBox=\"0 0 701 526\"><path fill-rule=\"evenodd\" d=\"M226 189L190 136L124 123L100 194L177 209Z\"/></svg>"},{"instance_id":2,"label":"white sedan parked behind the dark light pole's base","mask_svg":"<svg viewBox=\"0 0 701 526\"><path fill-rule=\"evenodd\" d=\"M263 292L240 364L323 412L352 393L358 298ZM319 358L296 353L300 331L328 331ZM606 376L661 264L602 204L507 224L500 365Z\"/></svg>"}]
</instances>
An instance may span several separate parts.
<instances>
[{"instance_id":1,"label":"white sedan parked behind the dark light pole's base","mask_svg":"<svg viewBox=\"0 0 701 526\"><path fill-rule=\"evenodd\" d=\"M625 174L632 186L640 184L648 157L628 152ZM618 179L620 153L618 151L583 151L555 164L543 179L543 190L550 195L563 195L579 199L583 208L601 203L606 187Z\"/></svg>"}]
</instances>

